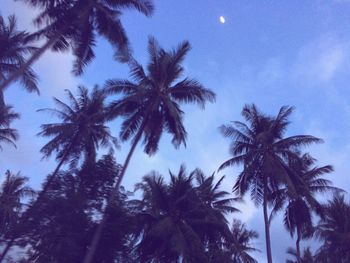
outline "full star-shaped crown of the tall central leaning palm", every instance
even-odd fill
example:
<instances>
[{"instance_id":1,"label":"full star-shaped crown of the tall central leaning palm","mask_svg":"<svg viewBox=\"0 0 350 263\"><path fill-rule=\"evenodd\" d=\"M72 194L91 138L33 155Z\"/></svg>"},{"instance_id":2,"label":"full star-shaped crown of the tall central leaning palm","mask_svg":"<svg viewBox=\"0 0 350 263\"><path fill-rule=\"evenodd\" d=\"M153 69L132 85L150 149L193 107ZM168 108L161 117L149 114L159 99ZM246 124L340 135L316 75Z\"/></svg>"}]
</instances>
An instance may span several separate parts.
<instances>
[{"instance_id":1,"label":"full star-shaped crown of the tall central leaning palm","mask_svg":"<svg viewBox=\"0 0 350 263\"><path fill-rule=\"evenodd\" d=\"M174 50L165 51L150 38L147 73L139 63L132 61L131 81L107 81L107 93L122 94L122 98L109 107L112 117L125 117L120 132L122 140L128 140L142 129L147 154L157 151L163 131L172 136L175 147L186 145L187 132L180 104L196 103L204 107L207 101L215 100L215 94L198 81L182 78L184 67L181 63L189 50L187 41Z\"/></svg>"}]
</instances>

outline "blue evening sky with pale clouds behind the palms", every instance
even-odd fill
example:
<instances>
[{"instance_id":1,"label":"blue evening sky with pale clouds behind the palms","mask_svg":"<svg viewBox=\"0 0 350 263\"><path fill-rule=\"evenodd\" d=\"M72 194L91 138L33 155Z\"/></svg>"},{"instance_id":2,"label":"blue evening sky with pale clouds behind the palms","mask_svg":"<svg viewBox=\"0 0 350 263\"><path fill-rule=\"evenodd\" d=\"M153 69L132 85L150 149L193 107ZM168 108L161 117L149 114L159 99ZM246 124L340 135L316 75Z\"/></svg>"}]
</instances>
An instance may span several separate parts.
<instances>
[{"instance_id":1,"label":"blue evening sky with pale clouds behind the palms","mask_svg":"<svg viewBox=\"0 0 350 263\"><path fill-rule=\"evenodd\" d=\"M282 105L295 106L288 134L312 134L325 140L308 150L320 165L332 164L330 176L336 186L350 191L347 174L350 155L350 1L260 1L260 0L167 0L155 1L156 10L148 19L126 12L123 23L134 50L134 56L146 63L147 39L156 37L165 48L189 40L192 50L184 62L186 74L197 78L217 93L216 104L205 111L186 106L185 125L189 133L187 148L175 150L168 136L163 136L160 151L149 158L138 149L127 171L124 185L135 182L152 169L167 175L185 163L188 170L200 167L211 174L229 158L228 144L218 132L221 124L241 120L245 103L255 103L266 113L275 114ZM33 30L35 11L22 2L1 0L0 11L15 13L21 28ZM219 17L226 18L225 24ZM21 113L14 123L20 131L18 148L4 147L0 174L6 169L21 171L39 188L53 160L41 161L38 154L44 140L36 137L42 123L54 121L36 110L52 106L52 96L63 98L64 89L77 85L102 85L109 78L126 78L128 69L112 59L112 49L104 40L96 47L97 58L80 78L71 75L72 56L45 54L34 66L40 75L41 96L28 94L17 85L5 93L7 101ZM111 123L113 133L117 123ZM123 162L129 144L116 152ZM227 169L224 187L230 190L239 169ZM218 175L218 176L219 176ZM239 217L260 232L256 242L265 262L261 209L248 200ZM272 227L275 262L285 261L285 250L291 239L281 218Z\"/></svg>"}]
</instances>

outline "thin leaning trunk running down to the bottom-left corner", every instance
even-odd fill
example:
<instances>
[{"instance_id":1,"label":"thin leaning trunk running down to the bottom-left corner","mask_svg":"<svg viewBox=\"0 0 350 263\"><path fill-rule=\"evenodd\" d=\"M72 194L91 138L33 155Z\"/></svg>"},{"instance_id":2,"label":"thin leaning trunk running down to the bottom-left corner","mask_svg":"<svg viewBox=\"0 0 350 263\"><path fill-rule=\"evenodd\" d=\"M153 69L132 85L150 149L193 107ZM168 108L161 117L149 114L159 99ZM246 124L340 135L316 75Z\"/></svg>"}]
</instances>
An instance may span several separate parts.
<instances>
[{"instance_id":1,"label":"thin leaning trunk running down to the bottom-left corner","mask_svg":"<svg viewBox=\"0 0 350 263\"><path fill-rule=\"evenodd\" d=\"M19 223L17 223L17 227L21 226L27 219L30 218L31 213L34 210L34 207L40 203L41 199L45 196L45 194L47 193L47 191L49 190L53 180L56 178L58 171L61 169L61 166L66 162L66 159L70 153L70 151L72 150L75 141L77 140L78 135L76 135L74 137L74 139L72 140L71 144L69 145L69 147L67 148L67 150L65 151L65 153L63 154L61 161L58 163L56 169L54 170L54 172L49 176L49 180L47 180L46 184L44 185L44 188L39 192L38 198L35 200L35 202L33 203L33 205L31 207L29 207L27 209L27 211L24 212L23 216L20 218ZM15 229L16 230L16 229ZM17 229L18 231L18 229ZM10 248L13 246L16 238L18 238L18 232L14 232L13 236L11 237L11 239L7 242L6 247L4 249L4 251L2 252L2 254L0 255L0 263L4 260L6 254L9 252Z\"/></svg>"}]
</instances>

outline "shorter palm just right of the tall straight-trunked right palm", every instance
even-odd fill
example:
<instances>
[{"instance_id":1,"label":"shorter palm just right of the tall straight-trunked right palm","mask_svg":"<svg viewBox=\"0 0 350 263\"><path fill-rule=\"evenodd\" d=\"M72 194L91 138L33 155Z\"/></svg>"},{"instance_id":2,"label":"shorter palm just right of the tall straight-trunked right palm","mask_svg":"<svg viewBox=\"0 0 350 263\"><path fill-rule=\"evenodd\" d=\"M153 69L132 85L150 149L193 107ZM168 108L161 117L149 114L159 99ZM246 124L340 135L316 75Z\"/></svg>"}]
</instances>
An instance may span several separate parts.
<instances>
[{"instance_id":1,"label":"shorter palm just right of the tall straight-trunked right palm","mask_svg":"<svg viewBox=\"0 0 350 263\"><path fill-rule=\"evenodd\" d=\"M296 233L296 256L298 262L301 262L300 241L310 238L313 235L312 212L322 216L322 206L317 201L318 193L327 191L339 191L340 189L332 187L332 182L321 178L323 175L333 171L332 166L313 167L316 159L309 154L304 154L300 160L291 160L289 167L297 173L302 179L302 184L295 183L297 197L290 197L286 187L280 188L272 193L274 208L271 212L272 217L279 210L285 208L284 224L291 236ZM294 179L294 178L292 178Z\"/></svg>"}]
</instances>

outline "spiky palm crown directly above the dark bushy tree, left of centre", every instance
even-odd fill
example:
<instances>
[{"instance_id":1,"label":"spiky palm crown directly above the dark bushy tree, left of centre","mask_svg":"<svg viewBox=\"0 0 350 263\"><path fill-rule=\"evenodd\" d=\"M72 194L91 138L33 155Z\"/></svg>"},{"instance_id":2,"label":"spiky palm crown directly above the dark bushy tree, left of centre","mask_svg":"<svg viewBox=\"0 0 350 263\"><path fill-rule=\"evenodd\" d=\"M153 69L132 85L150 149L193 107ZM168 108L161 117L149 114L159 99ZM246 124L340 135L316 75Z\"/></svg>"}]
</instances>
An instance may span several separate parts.
<instances>
[{"instance_id":1,"label":"spiky palm crown directly above the dark bushy tree, left of centre","mask_svg":"<svg viewBox=\"0 0 350 263\"><path fill-rule=\"evenodd\" d=\"M116 139L105 125L105 95L95 87L89 94L85 87L79 87L77 98L67 90L69 104L54 98L57 109L42 109L56 115L61 122L43 124L40 136L52 138L41 152L44 157L56 153L56 159L61 160L68 154L67 161L77 163L82 154L85 161L95 161L96 150L102 147L113 147ZM89 159L92 158L92 159Z\"/></svg>"}]
</instances>

